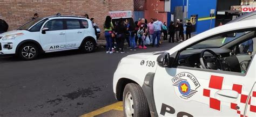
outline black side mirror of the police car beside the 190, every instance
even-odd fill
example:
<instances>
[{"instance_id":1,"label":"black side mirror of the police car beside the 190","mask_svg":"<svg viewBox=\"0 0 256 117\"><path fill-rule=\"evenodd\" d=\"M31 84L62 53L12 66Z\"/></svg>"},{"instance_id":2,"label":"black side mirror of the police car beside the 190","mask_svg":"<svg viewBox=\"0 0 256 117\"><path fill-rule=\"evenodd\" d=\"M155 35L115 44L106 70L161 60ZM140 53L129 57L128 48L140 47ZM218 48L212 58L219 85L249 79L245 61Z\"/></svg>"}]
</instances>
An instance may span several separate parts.
<instances>
[{"instance_id":1,"label":"black side mirror of the police car beside the 190","mask_svg":"<svg viewBox=\"0 0 256 117\"><path fill-rule=\"evenodd\" d=\"M164 53L157 57L157 64L160 67L169 67L170 66L170 54Z\"/></svg>"}]
</instances>

